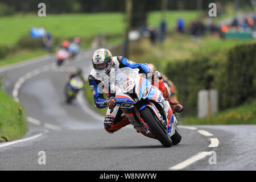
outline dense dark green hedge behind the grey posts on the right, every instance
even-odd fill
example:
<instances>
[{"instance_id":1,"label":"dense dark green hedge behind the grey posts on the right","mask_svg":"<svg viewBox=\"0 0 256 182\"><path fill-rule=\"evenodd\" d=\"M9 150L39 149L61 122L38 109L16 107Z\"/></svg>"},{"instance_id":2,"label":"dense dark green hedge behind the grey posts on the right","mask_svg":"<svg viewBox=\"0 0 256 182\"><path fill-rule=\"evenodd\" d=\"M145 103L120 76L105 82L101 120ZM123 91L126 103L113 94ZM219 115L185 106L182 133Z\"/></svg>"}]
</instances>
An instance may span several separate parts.
<instances>
[{"instance_id":1,"label":"dense dark green hedge behind the grey posts on the right","mask_svg":"<svg viewBox=\"0 0 256 182\"><path fill-rule=\"evenodd\" d=\"M256 44L241 44L226 52L167 64L185 114L196 115L197 92L217 89L219 108L226 109L255 98Z\"/></svg>"}]
</instances>

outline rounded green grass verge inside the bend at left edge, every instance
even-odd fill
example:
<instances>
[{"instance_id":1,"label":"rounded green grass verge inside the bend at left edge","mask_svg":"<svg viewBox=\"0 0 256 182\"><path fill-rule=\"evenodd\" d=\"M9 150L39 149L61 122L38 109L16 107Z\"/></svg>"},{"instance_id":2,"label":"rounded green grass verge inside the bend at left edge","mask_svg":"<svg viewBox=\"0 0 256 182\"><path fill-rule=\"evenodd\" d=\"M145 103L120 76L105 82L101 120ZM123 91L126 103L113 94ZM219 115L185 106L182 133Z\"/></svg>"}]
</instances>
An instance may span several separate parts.
<instances>
[{"instance_id":1,"label":"rounded green grass verge inside the bend at left edge","mask_svg":"<svg viewBox=\"0 0 256 182\"><path fill-rule=\"evenodd\" d=\"M1 89L0 98L0 142L23 137L28 129L22 106Z\"/></svg>"}]
</instances>

